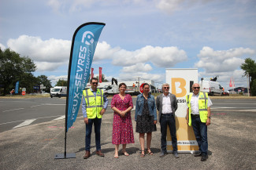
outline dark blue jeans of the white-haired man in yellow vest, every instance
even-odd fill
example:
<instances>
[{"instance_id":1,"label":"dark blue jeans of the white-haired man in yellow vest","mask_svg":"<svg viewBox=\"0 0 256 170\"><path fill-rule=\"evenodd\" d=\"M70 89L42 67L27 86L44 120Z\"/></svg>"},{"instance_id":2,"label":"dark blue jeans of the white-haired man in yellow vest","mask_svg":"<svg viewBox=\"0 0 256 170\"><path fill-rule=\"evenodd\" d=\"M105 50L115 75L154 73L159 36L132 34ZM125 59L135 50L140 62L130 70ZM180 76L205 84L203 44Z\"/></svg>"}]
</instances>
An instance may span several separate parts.
<instances>
[{"instance_id":1,"label":"dark blue jeans of the white-haired man in yellow vest","mask_svg":"<svg viewBox=\"0 0 256 170\"><path fill-rule=\"evenodd\" d=\"M191 123L195 133L195 139L198 142L199 151L202 154L207 155L208 153L208 142L207 142L207 126L206 123L202 123L200 117L191 115Z\"/></svg>"}]
</instances>

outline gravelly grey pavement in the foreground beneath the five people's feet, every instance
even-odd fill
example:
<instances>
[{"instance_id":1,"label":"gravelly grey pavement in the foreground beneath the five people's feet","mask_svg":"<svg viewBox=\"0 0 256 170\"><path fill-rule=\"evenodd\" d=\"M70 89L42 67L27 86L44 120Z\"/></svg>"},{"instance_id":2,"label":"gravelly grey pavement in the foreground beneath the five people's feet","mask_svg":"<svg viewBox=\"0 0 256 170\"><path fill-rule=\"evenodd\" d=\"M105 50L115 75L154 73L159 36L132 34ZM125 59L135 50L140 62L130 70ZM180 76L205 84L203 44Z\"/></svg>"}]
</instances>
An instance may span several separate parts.
<instances>
[{"instance_id":1,"label":"gravelly grey pavement in the foreground beneath the five people's feet","mask_svg":"<svg viewBox=\"0 0 256 170\"><path fill-rule=\"evenodd\" d=\"M173 154L159 157L161 132L153 132L151 148L153 156L139 157L139 135L135 143L128 144L130 156L113 158L112 141L113 114L102 118L102 152L95 154L95 135L91 136L89 159L84 160L85 125L79 115L69 128L67 153L76 158L54 159L55 154L64 153L65 120L48 121L28 125L0 133L0 169L256 169L256 113L213 110L208 128L210 156L206 162L192 154ZM132 111L134 118L134 110ZM133 128L135 132L135 121Z\"/></svg>"}]
</instances>

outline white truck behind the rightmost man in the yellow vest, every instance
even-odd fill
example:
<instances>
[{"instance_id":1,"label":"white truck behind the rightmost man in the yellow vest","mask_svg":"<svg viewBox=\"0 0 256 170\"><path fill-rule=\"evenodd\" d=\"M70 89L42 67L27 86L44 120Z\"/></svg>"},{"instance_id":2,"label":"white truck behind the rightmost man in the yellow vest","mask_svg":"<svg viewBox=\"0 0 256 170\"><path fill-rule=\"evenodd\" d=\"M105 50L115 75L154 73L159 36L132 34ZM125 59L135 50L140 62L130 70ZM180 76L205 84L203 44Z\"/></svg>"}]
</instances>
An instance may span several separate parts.
<instances>
[{"instance_id":1,"label":"white truck behind the rightmost man in the yellow vest","mask_svg":"<svg viewBox=\"0 0 256 170\"><path fill-rule=\"evenodd\" d=\"M213 79L201 78L199 85L200 91L208 92L209 96L221 95L223 93L223 87L221 87L220 83L217 82L217 77Z\"/></svg>"}]
</instances>

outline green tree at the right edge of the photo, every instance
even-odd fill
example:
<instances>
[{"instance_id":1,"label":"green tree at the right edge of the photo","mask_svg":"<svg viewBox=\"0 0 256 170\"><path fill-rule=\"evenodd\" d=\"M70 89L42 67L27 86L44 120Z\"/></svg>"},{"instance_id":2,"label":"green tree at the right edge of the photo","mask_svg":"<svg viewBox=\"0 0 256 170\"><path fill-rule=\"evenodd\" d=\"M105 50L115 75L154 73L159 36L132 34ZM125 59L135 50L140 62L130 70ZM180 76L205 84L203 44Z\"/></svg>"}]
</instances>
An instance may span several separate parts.
<instances>
[{"instance_id":1,"label":"green tree at the right edge of the photo","mask_svg":"<svg viewBox=\"0 0 256 170\"><path fill-rule=\"evenodd\" d=\"M244 76L249 74L250 80L250 93L252 96L256 96L256 63L254 60L247 58L240 66L244 71Z\"/></svg>"}]
</instances>

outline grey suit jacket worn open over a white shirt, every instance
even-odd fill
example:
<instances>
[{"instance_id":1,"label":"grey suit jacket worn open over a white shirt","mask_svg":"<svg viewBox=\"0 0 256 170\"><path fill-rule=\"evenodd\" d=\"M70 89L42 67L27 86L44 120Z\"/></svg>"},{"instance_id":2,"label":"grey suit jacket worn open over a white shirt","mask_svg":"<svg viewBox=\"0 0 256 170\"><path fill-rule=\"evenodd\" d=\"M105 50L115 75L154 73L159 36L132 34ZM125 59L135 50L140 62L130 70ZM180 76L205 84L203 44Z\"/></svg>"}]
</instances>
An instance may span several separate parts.
<instances>
[{"instance_id":1,"label":"grey suit jacket worn open over a white shirt","mask_svg":"<svg viewBox=\"0 0 256 170\"><path fill-rule=\"evenodd\" d=\"M175 111L178 109L178 103L177 103L177 99L176 96L173 95L172 93L170 94L170 100L171 100L171 107L172 107L172 111L173 111L173 116L175 116ZM158 95L157 97L157 110L158 110L158 120L159 122L161 122L161 110L162 110L162 103L163 103L163 95Z\"/></svg>"}]
</instances>

